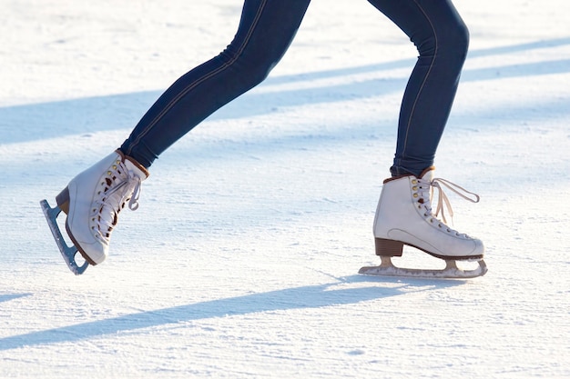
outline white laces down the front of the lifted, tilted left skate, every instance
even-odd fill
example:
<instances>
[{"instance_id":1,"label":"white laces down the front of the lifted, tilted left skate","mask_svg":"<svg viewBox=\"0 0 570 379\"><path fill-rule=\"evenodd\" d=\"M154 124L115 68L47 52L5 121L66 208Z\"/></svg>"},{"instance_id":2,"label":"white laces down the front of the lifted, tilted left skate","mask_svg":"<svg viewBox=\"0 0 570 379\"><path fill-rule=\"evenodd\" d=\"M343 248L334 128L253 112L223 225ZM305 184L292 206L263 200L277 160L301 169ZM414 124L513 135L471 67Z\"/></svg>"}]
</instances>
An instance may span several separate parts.
<instances>
[{"instance_id":1,"label":"white laces down the front of the lifted, tilted left skate","mask_svg":"<svg viewBox=\"0 0 570 379\"><path fill-rule=\"evenodd\" d=\"M109 168L100 185L101 188L97 192L99 198L91 209L91 228L97 238L108 244L111 232L117 224L118 214L127 202L129 209L137 210L141 179L129 171L123 162L117 160L116 164Z\"/></svg>"}]
</instances>

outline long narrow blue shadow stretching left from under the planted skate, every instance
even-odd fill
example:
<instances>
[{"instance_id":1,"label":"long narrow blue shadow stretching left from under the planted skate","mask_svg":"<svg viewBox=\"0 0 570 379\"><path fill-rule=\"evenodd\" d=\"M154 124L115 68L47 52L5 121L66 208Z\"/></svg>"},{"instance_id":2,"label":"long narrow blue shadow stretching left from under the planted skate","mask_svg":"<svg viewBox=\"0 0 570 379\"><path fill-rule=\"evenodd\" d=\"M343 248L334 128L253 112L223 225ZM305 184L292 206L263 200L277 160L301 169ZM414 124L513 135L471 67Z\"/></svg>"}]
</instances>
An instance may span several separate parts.
<instances>
[{"instance_id":1,"label":"long narrow blue shadow stretching left from under the planted skate","mask_svg":"<svg viewBox=\"0 0 570 379\"><path fill-rule=\"evenodd\" d=\"M355 282L392 282L400 283L393 278L375 278L361 275L351 276L348 279ZM343 304L356 304L371 300L378 300L398 294L407 294L416 287L415 291L427 291L433 288L443 288L463 284L463 281L409 281L399 287L383 288L379 285L370 285L360 288L335 289L332 284L308 285L270 291L260 294L247 294L238 297L212 300L203 303L178 305L156 311L125 314L105 320L97 320L82 324L73 324L55 329L14 335L0 339L0 350L16 349L29 345L57 344L76 342L88 338L112 335L141 328L148 328L164 324L176 324L194 320L203 320L214 317L231 315L254 314L260 312L284 311L292 309L310 309L324 306ZM406 288L406 291L402 291Z\"/></svg>"}]
</instances>

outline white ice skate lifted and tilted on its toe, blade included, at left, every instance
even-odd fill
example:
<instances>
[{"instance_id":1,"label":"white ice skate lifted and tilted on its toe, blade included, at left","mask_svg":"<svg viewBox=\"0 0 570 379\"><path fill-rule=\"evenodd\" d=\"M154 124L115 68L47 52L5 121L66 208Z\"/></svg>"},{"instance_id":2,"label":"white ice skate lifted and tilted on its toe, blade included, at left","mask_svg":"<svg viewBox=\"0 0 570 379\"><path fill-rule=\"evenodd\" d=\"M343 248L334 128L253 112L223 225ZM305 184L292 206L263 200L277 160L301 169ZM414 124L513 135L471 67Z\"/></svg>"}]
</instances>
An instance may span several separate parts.
<instances>
[{"instance_id":1,"label":"white ice skate lifted and tilted on its toe, blade included, at left","mask_svg":"<svg viewBox=\"0 0 570 379\"><path fill-rule=\"evenodd\" d=\"M117 150L73 178L56 196L56 207L40 202L71 271L83 274L88 264L105 261L117 216L127 203L131 210L137 209L140 185L147 177L145 167ZM66 231L74 246L66 245L56 224L61 211L67 214ZM76 264L77 252L87 261L81 266Z\"/></svg>"}]
</instances>

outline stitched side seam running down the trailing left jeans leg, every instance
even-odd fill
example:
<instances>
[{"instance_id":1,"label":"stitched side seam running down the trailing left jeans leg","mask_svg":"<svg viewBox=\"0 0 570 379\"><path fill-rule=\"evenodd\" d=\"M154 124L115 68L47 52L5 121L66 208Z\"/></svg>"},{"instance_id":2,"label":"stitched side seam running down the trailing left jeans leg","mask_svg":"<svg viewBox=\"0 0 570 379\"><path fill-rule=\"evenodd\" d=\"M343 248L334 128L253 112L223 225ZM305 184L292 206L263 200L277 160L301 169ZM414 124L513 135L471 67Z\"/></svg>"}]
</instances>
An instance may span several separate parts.
<instances>
[{"instance_id":1,"label":"stitched side seam running down the trailing left jeans leg","mask_svg":"<svg viewBox=\"0 0 570 379\"><path fill-rule=\"evenodd\" d=\"M168 102L168 105L166 105L162 109L162 111L152 120L152 122L139 135L137 135L137 139L135 139L135 141L131 145L129 145L128 151L125 152L126 155L129 155L132 152L133 147L137 146L140 143L140 140L145 135L148 135L148 133L152 130L152 128L158 124L158 121L160 121L160 119L162 117L164 117L164 115L166 115L168 113L168 111L170 111L170 109L172 109L172 107L174 105L176 105L182 97L187 95L188 92L190 92L191 90L196 88L196 86L202 84L204 81L206 81L210 77L212 77L214 75L218 75L222 71L228 69L229 66L233 65L239 59L239 56L243 53L246 46L248 45L249 40L251 39L251 35L253 35L253 30L256 28L256 26L258 25L258 23L260 21L261 13L263 12L263 9L265 9L266 4L267 4L267 0L262 0L260 7L258 8L257 14L255 15L255 18L254 18L253 22L251 23L251 26L249 27L248 34L246 35L246 37L243 41L243 44L241 44L239 46L238 53L236 55L234 55L234 57L228 63L225 63L224 65L220 66L216 70L211 71L208 74L199 77L197 80L188 84L182 91L180 91L178 93L178 95L176 95L170 102Z\"/></svg>"}]
</instances>

